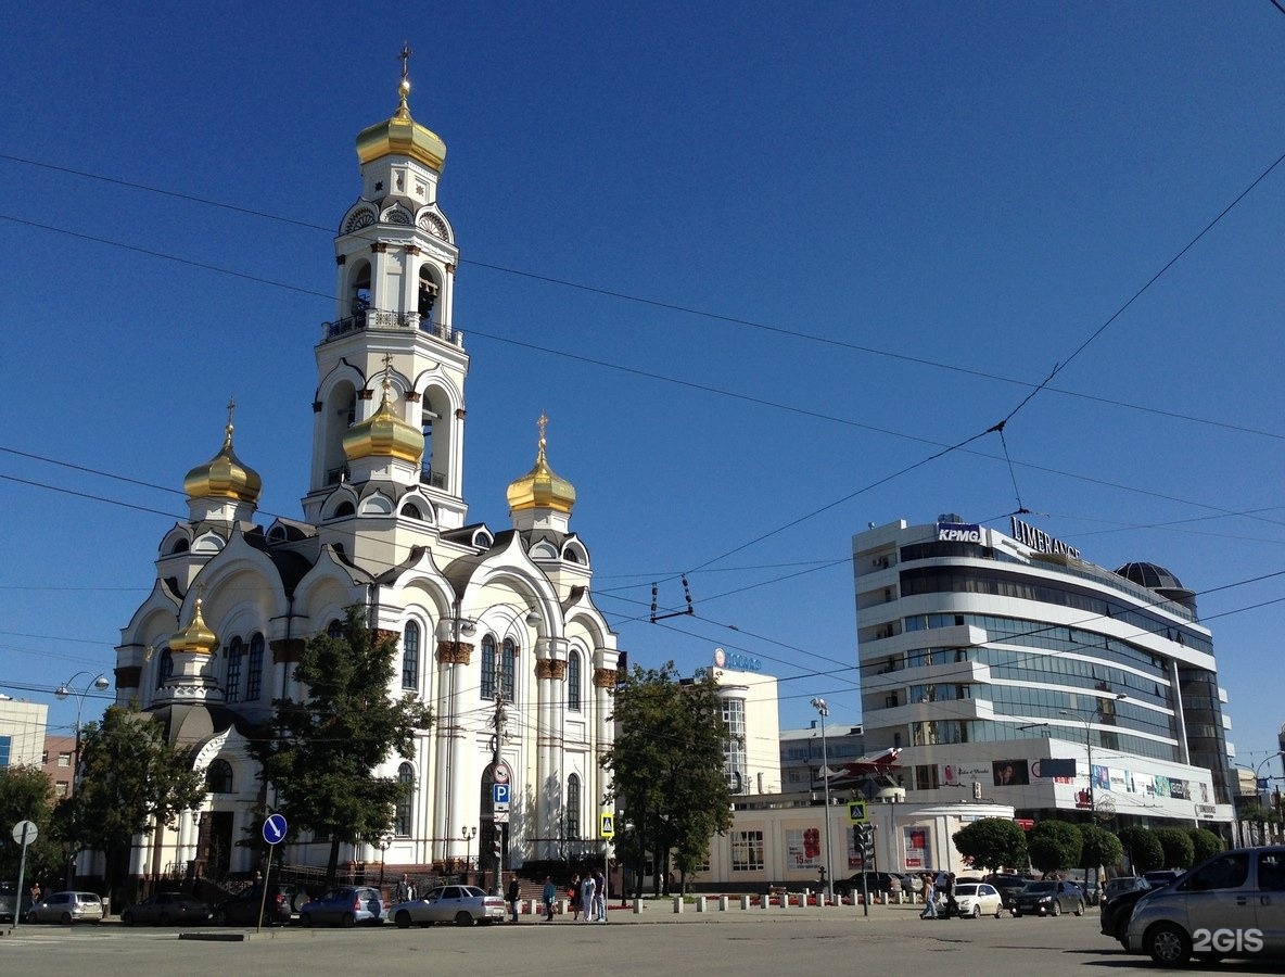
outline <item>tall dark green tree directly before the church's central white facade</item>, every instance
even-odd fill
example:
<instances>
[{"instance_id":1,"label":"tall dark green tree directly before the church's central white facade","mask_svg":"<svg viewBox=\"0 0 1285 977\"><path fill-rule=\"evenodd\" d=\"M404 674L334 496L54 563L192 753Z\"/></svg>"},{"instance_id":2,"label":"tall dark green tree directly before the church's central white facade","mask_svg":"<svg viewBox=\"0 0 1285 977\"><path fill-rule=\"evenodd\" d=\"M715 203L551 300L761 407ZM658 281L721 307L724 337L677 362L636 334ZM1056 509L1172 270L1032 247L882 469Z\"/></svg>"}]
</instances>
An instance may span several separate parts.
<instances>
[{"instance_id":1,"label":"tall dark green tree directly before the church's central white facade","mask_svg":"<svg viewBox=\"0 0 1285 977\"><path fill-rule=\"evenodd\" d=\"M341 636L320 634L299 654L294 677L307 698L276 699L272 728L256 738L261 776L276 788L276 810L292 832L330 842L328 884L339 846L378 843L406 794L375 767L393 753L409 760L415 730L432 724L432 710L414 693L388 694L396 650L396 635L371 631L361 608L350 607Z\"/></svg>"}]
</instances>

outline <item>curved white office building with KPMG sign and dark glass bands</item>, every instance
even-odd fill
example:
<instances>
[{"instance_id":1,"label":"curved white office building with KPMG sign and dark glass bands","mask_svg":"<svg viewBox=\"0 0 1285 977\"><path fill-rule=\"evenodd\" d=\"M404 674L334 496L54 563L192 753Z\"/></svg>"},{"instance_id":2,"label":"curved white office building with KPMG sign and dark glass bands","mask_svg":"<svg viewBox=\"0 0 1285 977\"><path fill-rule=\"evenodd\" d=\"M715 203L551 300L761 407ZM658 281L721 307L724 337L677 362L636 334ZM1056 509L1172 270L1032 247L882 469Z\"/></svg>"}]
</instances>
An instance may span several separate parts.
<instances>
[{"instance_id":1,"label":"curved white office building with KPMG sign and dark glass bands","mask_svg":"<svg viewBox=\"0 0 1285 977\"><path fill-rule=\"evenodd\" d=\"M1019 818L1231 821L1209 630L1168 571L1117 571L1016 517L853 537L866 748L902 748L907 801Z\"/></svg>"}]
</instances>

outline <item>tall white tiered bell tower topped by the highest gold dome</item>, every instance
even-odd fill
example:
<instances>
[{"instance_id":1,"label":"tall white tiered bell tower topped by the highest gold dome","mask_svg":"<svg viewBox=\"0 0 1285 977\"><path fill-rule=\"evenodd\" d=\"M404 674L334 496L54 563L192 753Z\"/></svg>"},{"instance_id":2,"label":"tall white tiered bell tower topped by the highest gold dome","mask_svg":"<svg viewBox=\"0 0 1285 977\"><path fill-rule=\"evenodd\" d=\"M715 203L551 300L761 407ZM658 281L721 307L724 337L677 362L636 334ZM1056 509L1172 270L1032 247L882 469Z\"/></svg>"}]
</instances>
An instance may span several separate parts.
<instances>
[{"instance_id":1,"label":"tall white tiered bell tower topped by the highest gold dome","mask_svg":"<svg viewBox=\"0 0 1285 977\"><path fill-rule=\"evenodd\" d=\"M373 477L370 465L350 464L344 440L377 414L424 436L416 463L378 469L379 478L402 492L421 491L442 530L463 526L468 512L469 357L452 327L459 249L437 202L446 144L411 118L410 55L403 48L397 111L357 135L362 192L334 239L335 319L324 324L316 346L312 471L303 499L310 522L328 515L337 488Z\"/></svg>"}]
</instances>

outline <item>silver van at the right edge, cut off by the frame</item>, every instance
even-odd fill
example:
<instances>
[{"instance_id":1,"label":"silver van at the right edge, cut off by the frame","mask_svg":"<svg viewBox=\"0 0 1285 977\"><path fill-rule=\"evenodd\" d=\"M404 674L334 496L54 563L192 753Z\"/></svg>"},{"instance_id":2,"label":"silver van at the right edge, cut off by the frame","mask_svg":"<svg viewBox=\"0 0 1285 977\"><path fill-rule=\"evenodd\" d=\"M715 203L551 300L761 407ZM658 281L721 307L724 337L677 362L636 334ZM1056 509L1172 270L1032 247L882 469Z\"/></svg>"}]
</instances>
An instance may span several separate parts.
<instances>
[{"instance_id":1,"label":"silver van at the right edge, cut off by the frame","mask_svg":"<svg viewBox=\"0 0 1285 977\"><path fill-rule=\"evenodd\" d=\"M1285 847L1214 855L1133 909L1124 949L1162 967L1192 954L1254 960L1285 958Z\"/></svg>"}]
</instances>

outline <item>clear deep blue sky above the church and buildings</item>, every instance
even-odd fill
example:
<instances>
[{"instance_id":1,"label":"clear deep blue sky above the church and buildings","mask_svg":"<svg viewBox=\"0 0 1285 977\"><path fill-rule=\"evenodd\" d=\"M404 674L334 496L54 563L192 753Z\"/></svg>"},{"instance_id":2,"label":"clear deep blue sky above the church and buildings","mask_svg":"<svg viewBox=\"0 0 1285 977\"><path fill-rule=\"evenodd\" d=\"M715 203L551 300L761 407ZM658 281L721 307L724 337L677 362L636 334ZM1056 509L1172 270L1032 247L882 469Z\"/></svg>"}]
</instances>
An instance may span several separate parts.
<instances>
[{"instance_id":1,"label":"clear deep blue sky above the church and buildings","mask_svg":"<svg viewBox=\"0 0 1285 977\"><path fill-rule=\"evenodd\" d=\"M855 722L852 532L1020 495L1201 594L1239 760L1275 748L1285 577L1246 581L1285 569L1285 165L1191 244L1285 153L1268 0L306 9L6 14L0 689L73 724L48 690L113 666L230 396L265 521L299 515L330 238L409 40L470 517L509 524L546 413L632 662L722 645L783 725ZM925 463L1059 364L1011 474L995 435ZM684 572L696 614L648 623Z\"/></svg>"}]
</instances>

